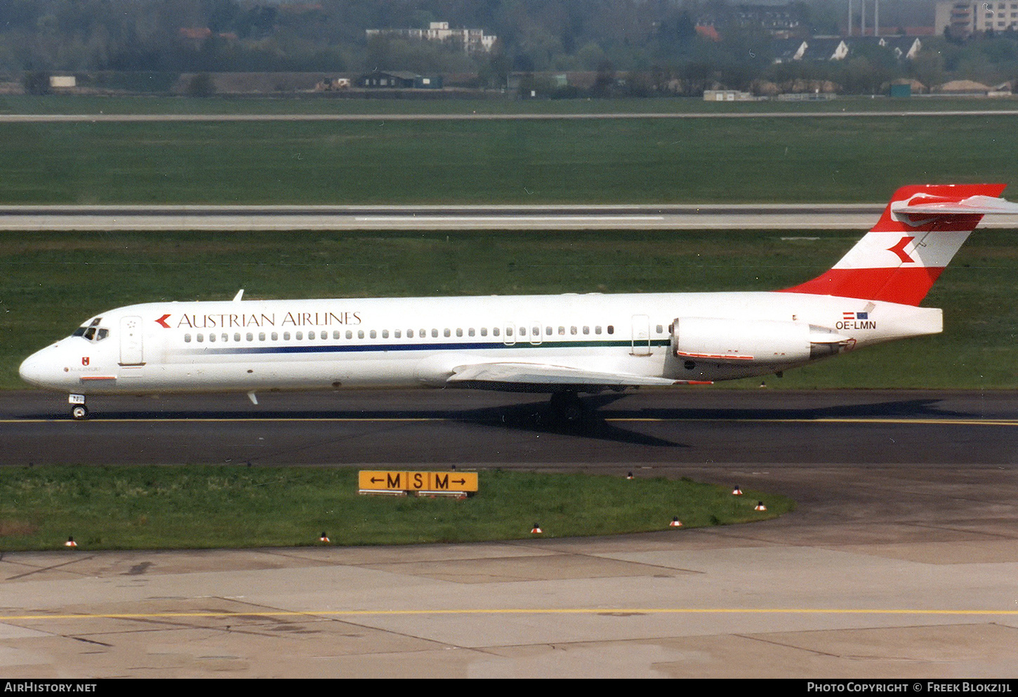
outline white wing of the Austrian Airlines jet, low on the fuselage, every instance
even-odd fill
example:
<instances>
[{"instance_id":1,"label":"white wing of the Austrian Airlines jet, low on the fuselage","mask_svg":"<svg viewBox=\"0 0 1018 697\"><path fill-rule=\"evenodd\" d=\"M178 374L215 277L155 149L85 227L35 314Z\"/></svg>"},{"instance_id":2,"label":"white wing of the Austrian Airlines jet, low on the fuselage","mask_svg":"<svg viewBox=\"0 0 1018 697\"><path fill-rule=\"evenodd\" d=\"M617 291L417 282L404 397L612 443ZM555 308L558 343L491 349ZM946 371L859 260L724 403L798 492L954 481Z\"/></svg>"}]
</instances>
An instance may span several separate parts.
<instances>
[{"instance_id":1,"label":"white wing of the Austrian Airlines jet, low on the fuselage","mask_svg":"<svg viewBox=\"0 0 1018 697\"><path fill-rule=\"evenodd\" d=\"M472 363L453 368L446 381L450 384L487 383L520 386L604 386L636 387L641 385L710 385L709 381L646 377L624 372L599 372L546 363Z\"/></svg>"}]
</instances>

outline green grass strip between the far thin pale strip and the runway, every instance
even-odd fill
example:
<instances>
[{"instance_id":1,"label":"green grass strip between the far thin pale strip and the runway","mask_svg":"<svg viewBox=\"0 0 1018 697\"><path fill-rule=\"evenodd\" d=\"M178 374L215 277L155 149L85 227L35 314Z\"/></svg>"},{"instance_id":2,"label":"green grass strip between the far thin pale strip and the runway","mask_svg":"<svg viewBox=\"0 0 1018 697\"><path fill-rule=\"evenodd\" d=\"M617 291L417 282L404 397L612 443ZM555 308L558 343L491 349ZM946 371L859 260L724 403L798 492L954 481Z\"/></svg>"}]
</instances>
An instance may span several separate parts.
<instances>
[{"instance_id":1,"label":"green grass strip between the far thin pale strip and the runway","mask_svg":"<svg viewBox=\"0 0 1018 697\"><path fill-rule=\"evenodd\" d=\"M1016 179L1013 117L0 124L0 204L882 201Z\"/></svg>"}]
</instances>

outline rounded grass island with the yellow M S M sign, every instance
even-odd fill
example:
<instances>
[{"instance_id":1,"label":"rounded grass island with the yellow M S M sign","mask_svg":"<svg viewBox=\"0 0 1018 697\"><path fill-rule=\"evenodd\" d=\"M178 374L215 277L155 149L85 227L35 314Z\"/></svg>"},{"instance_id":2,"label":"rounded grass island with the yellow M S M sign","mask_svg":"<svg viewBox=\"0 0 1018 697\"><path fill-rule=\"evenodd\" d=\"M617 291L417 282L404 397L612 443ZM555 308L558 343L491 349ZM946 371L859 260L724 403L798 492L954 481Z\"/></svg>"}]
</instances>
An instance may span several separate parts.
<instances>
[{"instance_id":1,"label":"rounded grass island with the yellow M S M sign","mask_svg":"<svg viewBox=\"0 0 1018 697\"><path fill-rule=\"evenodd\" d=\"M362 497L347 468L0 468L0 550L466 542L606 535L775 518L794 503L665 478L482 471L470 499ZM766 512L753 506L764 501ZM681 534L677 531L676 534Z\"/></svg>"}]
</instances>

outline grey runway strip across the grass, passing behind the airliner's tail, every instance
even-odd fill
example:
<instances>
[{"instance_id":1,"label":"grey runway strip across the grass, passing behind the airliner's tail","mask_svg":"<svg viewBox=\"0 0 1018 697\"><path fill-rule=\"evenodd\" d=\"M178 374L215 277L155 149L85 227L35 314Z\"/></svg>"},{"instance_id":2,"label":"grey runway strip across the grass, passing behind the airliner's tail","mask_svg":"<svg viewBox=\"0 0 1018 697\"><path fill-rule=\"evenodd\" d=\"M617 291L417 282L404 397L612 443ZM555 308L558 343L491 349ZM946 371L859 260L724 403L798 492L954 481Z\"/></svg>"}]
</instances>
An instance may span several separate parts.
<instances>
[{"instance_id":1,"label":"grey runway strip across the grass, passing behind the airliner's tail","mask_svg":"<svg viewBox=\"0 0 1018 697\"><path fill-rule=\"evenodd\" d=\"M864 230L885 206L0 206L0 230ZM980 223L1014 225L1009 216Z\"/></svg>"}]
</instances>

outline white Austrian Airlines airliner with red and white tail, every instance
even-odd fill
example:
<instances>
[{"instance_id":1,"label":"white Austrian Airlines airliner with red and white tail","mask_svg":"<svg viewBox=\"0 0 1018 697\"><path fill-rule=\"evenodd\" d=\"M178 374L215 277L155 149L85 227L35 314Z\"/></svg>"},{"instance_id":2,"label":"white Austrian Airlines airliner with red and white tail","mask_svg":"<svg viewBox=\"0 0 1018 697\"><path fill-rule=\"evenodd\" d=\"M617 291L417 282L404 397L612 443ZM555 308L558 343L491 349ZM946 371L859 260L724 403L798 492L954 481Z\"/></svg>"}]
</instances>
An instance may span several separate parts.
<instances>
[{"instance_id":1,"label":"white Austrian Airlines airliner with red and white tail","mask_svg":"<svg viewBox=\"0 0 1018 697\"><path fill-rule=\"evenodd\" d=\"M103 312L21 363L69 394L432 386L578 393L712 383L943 330L919 307L1003 184L899 189L830 271L771 292L152 302Z\"/></svg>"}]
</instances>

